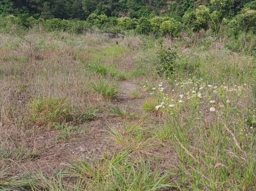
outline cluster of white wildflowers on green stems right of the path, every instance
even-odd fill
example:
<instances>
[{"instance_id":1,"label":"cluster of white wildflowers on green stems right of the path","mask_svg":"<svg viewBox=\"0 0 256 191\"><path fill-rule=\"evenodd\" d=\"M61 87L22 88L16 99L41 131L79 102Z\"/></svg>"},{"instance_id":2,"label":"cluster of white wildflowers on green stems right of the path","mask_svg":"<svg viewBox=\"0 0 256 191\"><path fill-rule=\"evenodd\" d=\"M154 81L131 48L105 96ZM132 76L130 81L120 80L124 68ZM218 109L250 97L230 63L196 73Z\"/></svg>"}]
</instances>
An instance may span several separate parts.
<instances>
[{"instance_id":1,"label":"cluster of white wildflowers on green stems right of the path","mask_svg":"<svg viewBox=\"0 0 256 191\"><path fill-rule=\"evenodd\" d=\"M146 83L148 84L148 81L146 81ZM167 88L167 85L163 85L163 82L158 84L158 88L156 88L157 85L151 88L151 95L156 94L156 96L159 96L160 99L166 102L166 106L164 105L164 102L162 102L155 107L156 110L159 110L160 108L166 108L167 106L167 108L178 108L180 107L180 104L186 104L186 100L193 100L193 102L197 102L197 104L206 103L204 101L208 100L208 103L210 103L209 111L218 112L217 108L228 107L227 104L231 103L231 100L228 99L230 93L241 92L243 89L243 85L228 87L225 85L225 83L224 85L217 87L211 84L204 83L202 78L200 78L199 80L196 78L189 78L185 82L178 82L177 80L174 80L174 84L178 87L177 89L180 89L180 91L183 92L180 92L177 95L176 93L174 93L175 90L171 89L171 92L173 92L171 93L171 95L165 94L163 93L163 91ZM146 85L144 85L144 88L146 88ZM191 89L187 91L186 89L188 88ZM223 98L226 98L226 100L224 101Z\"/></svg>"}]
</instances>

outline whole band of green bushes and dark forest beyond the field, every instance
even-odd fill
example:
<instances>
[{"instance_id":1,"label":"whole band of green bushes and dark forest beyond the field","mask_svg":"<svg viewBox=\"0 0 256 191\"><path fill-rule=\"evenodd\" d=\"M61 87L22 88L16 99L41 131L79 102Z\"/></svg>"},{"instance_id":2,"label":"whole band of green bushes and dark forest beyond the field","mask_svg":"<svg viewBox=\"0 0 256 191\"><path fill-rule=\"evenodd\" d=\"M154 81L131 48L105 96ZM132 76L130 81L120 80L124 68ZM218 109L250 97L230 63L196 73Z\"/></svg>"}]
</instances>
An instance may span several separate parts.
<instances>
[{"instance_id":1,"label":"whole band of green bushes and dark forest beyond the field","mask_svg":"<svg viewBox=\"0 0 256 191\"><path fill-rule=\"evenodd\" d=\"M232 51L255 55L256 1L250 0L2 0L2 32L38 26L40 30L82 33L104 32L179 38L202 31ZM223 42L222 39L229 39ZM247 43L250 42L250 47ZM195 44L195 43L194 43Z\"/></svg>"}]
</instances>

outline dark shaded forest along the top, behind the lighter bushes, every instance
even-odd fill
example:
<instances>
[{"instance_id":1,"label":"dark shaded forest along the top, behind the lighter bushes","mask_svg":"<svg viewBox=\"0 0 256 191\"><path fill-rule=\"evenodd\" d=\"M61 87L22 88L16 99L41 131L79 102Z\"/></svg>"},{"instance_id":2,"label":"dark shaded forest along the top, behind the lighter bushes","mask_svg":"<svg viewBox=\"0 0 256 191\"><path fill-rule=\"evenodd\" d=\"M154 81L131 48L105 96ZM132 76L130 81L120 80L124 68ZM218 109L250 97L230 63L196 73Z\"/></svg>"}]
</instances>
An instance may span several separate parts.
<instances>
[{"instance_id":1,"label":"dark shaded forest along the top, behind the lighter bushes","mask_svg":"<svg viewBox=\"0 0 256 191\"><path fill-rule=\"evenodd\" d=\"M182 20L186 12L191 12L203 5L211 11L219 10L229 13L229 17L238 14L247 3L255 8L251 0L2 0L0 14L24 14L35 18L78 18L86 20L90 14L105 14L107 17L141 18L170 16Z\"/></svg>"}]
</instances>

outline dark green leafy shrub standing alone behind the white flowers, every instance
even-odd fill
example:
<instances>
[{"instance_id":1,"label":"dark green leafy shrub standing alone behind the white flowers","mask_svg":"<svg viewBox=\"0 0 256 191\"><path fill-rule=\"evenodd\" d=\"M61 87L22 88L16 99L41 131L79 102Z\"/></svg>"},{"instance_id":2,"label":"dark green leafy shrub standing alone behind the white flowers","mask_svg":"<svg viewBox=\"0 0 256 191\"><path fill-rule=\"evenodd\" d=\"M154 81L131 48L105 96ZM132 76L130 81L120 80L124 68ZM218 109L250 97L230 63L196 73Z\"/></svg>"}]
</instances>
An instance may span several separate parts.
<instances>
[{"instance_id":1,"label":"dark green leafy shrub standing alone behind the white flowers","mask_svg":"<svg viewBox=\"0 0 256 191\"><path fill-rule=\"evenodd\" d=\"M175 70L177 70L178 57L175 50L171 50L171 48L163 48L157 54L160 58L158 74L170 76L170 74L174 73Z\"/></svg>"}]
</instances>

